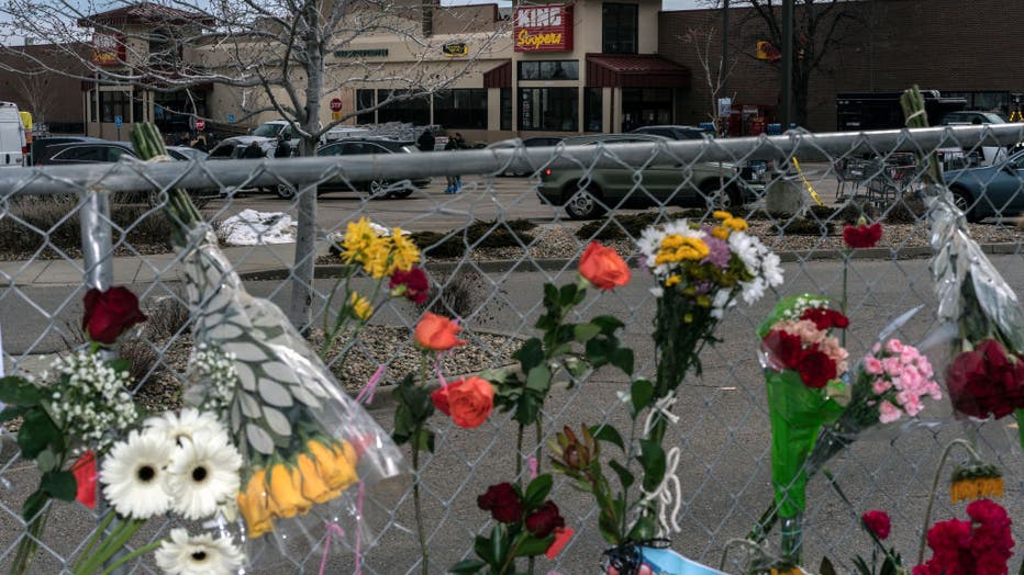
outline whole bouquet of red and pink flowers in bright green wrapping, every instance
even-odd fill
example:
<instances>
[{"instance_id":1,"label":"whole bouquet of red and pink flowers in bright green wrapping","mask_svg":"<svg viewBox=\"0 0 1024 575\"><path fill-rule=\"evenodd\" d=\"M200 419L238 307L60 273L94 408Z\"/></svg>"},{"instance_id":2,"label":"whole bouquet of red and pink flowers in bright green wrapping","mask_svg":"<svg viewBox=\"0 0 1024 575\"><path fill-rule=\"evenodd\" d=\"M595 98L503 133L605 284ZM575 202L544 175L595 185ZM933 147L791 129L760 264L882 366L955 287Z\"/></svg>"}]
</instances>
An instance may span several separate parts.
<instances>
[{"instance_id":1,"label":"whole bouquet of red and pink flowers in bright green wrapping","mask_svg":"<svg viewBox=\"0 0 1024 575\"><path fill-rule=\"evenodd\" d=\"M800 562L800 523L806 507L804 463L825 424L849 403L844 382L847 351L832 335L849 320L828 300L798 295L781 300L757 329L760 362L768 384L771 419L771 480L783 521L782 555Z\"/></svg>"}]
</instances>

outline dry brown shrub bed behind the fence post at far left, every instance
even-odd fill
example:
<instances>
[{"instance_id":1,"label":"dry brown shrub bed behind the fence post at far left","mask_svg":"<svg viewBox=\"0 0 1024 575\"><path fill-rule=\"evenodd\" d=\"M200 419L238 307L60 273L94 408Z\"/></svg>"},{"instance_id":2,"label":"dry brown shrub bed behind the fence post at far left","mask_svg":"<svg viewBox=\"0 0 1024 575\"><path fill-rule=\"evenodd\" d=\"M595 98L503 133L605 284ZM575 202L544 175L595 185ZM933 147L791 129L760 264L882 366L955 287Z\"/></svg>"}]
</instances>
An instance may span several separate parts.
<instances>
[{"instance_id":1,"label":"dry brown shrub bed behind the fence post at far left","mask_svg":"<svg viewBox=\"0 0 1024 575\"><path fill-rule=\"evenodd\" d=\"M171 226L160 210L111 198L113 243L170 249ZM41 248L56 253L81 249L77 195L36 195L0 202L0 251L32 253Z\"/></svg>"}]
</instances>

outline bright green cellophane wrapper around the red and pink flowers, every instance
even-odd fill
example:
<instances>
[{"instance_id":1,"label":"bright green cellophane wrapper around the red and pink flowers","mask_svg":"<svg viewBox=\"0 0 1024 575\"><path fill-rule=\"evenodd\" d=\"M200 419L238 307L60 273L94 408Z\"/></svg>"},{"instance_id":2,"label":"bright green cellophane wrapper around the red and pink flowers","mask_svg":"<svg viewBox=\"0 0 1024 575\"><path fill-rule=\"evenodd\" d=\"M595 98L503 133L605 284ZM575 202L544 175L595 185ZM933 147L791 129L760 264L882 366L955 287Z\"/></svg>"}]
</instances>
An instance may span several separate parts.
<instances>
[{"instance_id":1,"label":"bright green cellophane wrapper around the red and pink flowers","mask_svg":"<svg viewBox=\"0 0 1024 575\"><path fill-rule=\"evenodd\" d=\"M806 509L805 463L822 427L843 414L844 407L835 397L842 395L843 384L830 382L825 387L809 387L800 372L784 368L786 361L777 354L778 350L764 340L780 322L794 320L803 309L825 304L827 300L821 296L786 297L757 329L763 341L758 359L765 370L771 422L771 483L778 514L783 519L799 517Z\"/></svg>"}]
</instances>

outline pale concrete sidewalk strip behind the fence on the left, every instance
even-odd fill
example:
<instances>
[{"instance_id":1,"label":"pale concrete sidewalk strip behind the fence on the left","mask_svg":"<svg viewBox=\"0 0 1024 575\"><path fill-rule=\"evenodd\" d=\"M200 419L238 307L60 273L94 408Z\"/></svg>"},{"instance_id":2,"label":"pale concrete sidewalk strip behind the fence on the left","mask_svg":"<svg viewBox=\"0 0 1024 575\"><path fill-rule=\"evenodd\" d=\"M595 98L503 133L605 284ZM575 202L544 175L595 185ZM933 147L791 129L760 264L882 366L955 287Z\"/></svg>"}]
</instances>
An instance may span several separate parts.
<instances>
[{"instance_id":1,"label":"pale concrete sidewalk strip behind the fence on the left","mask_svg":"<svg viewBox=\"0 0 1024 575\"><path fill-rule=\"evenodd\" d=\"M327 243L316 244L316 256L327 252ZM294 262L294 244L238 246L221 248L241 274L288 269ZM151 283L158 279L179 279L175 252L115 257L114 284ZM0 285L75 285L82 281L81 259L29 260L0 262Z\"/></svg>"}]
</instances>

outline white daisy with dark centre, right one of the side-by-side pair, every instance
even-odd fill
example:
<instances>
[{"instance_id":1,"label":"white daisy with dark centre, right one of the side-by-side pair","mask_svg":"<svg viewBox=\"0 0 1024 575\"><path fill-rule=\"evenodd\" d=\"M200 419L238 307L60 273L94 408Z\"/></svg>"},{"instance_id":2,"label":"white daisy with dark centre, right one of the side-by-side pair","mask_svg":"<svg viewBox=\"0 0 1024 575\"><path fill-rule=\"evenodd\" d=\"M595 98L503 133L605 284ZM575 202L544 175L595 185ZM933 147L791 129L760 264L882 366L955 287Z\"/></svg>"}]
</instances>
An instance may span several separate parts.
<instances>
[{"instance_id":1,"label":"white daisy with dark centre, right one of the side-by-side pair","mask_svg":"<svg viewBox=\"0 0 1024 575\"><path fill-rule=\"evenodd\" d=\"M167 493L174 510L186 519L213 515L238 492L242 455L215 433L196 432L182 440L167 467Z\"/></svg>"}]
</instances>

